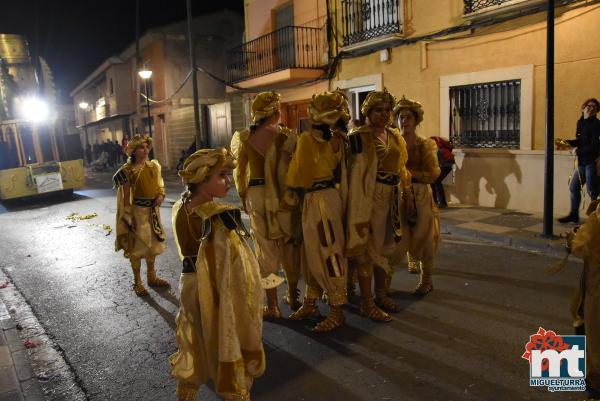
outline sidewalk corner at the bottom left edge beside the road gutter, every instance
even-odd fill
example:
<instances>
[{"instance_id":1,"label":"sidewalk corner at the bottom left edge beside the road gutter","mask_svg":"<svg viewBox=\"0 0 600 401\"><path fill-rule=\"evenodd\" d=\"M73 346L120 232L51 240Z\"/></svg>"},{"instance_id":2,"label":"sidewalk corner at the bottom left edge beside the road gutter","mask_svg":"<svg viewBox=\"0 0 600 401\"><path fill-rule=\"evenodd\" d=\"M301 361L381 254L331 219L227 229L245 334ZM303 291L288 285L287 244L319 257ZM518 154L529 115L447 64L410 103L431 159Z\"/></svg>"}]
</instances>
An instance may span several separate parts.
<instances>
[{"instance_id":1,"label":"sidewalk corner at the bottom left edge beside the road gutter","mask_svg":"<svg viewBox=\"0 0 600 401\"><path fill-rule=\"evenodd\" d=\"M1 290L0 290L1 291ZM17 326L0 298L0 401L43 401Z\"/></svg>"}]
</instances>

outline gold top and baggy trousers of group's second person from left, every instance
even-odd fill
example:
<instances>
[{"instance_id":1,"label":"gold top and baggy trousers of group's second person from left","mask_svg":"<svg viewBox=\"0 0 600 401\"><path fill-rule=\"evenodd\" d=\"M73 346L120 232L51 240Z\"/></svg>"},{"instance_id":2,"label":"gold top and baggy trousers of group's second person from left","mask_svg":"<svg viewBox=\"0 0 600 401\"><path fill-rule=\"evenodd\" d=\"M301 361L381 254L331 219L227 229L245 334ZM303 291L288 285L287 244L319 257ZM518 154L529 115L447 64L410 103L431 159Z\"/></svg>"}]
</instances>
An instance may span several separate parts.
<instances>
[{"instance_id":1,"label":"gold top and baggy trousers of group's second person from left","mask_svg":"<svg viewBox=\"0 0 600 401\"><path fill-rule=\"evenodd\" d=\"M317 182L331 181L337 169L340 177L346 176L342 141L339 147L334 152L318 130L302 133L287 175L289 188L309 190L304 194L302 206L302 267L309 283L306 296L316 299L325 292L330 305L343 305L347 301L348 261L344 255L343 224L347 183L343 179L338 188L310 189Z\"/></svg>"}]
</instances>

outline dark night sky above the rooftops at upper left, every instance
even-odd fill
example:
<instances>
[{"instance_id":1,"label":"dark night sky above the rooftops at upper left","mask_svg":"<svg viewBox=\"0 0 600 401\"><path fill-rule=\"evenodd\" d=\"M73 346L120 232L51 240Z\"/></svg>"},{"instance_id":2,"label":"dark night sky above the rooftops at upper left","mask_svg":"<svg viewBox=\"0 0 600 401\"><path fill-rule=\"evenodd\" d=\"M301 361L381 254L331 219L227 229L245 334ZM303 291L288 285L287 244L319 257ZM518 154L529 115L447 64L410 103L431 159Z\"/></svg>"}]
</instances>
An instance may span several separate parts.
<instances>
[{"instance_id":1,"label":"dark night sky above the rooftops at upper left","mask_svg":"<svg viewBox=\"0 0 600 401\"><path fill-rule=\"evenodd\" d=\"M32 55L48 61L62 101L109 56L135 40L135 0L2 0L0 33L27 37ZM243 13L243 0L192 0L194 16L229 8ZM140 0L140 34L185 19L185 0Z\"/></svg>"}]
</instances>

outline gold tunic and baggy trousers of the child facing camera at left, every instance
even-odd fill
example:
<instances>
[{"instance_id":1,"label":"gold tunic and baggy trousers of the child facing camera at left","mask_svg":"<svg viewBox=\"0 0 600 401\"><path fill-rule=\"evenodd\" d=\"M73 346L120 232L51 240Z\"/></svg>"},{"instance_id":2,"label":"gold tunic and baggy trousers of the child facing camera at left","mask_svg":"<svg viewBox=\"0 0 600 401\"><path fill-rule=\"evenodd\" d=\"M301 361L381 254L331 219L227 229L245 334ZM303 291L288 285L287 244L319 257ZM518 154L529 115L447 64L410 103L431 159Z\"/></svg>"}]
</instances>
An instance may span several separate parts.
<instances>
[{"instance_id":1,"label":"gold tunic and baggy trousers of the child facing camera at left","mask_svg":"<svg viewBox=\"0 0 600 401\"><path fill-rule=\"evenodd\" d=\"M115 250L123 249L125 257L130 259L153 258L165 251L160 208L139 206L135 200L143 199L151 202L158 195L164 196L165 185L160 164L156 160L146 161L138 167L126 163L121 170L127 176L127 182L131 188L130 205L133 227L128 227L123 220L124 191L123 187L119 186L117 189Z\"/></svg>"}]
</instances>

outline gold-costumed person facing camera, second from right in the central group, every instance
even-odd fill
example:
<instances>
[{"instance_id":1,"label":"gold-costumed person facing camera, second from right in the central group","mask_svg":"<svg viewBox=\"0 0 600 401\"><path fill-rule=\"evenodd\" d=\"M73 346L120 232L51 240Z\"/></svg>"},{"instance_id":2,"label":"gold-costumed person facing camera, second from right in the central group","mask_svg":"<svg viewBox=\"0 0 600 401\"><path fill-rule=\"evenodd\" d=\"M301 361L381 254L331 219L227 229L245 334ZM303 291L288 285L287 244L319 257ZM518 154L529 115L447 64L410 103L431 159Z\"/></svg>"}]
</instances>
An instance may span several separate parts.
<instances>
[{"instance_id":1,"label":"gold-costumed person facing camera, second from right in the central group","mask_svg":"<svg viewBox=\"0 0 600 401\"><path fill-rule=\"evenodd\" d=\"M348 136L352 155L348 161L346 249L358 272L361 313L378 322L391 320L386 311L399 311L387 288L402 237L401 210L412 204L405 201L410 199L406 144L391 126L394 105L394 97L386 90L369 93L361 106L367 122Z\"/></svg>"}]
</instances>

